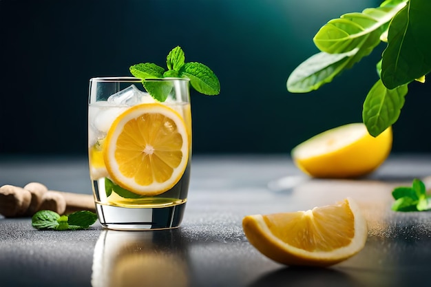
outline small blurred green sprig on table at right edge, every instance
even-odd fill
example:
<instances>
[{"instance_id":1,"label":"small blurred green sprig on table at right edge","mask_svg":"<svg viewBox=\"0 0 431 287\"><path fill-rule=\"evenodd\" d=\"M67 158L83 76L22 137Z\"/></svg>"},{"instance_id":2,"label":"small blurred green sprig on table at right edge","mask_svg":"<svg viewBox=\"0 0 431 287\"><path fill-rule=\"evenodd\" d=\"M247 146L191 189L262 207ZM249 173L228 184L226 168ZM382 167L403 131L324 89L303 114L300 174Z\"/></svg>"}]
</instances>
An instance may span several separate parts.
<instances>
[{"instance_id":1,"label":"small blurred green sprig on table at right edge","mask_svg":"<svg viewBox=\"0 0 431 287\"><path fill-rule=\"evenodd\" d=\"M431 209L431 195L427 195L425 184L414 179L412 187L397 187L392 191L395 202L393 211L428 211Z\"/></svg>"}]
</instances>

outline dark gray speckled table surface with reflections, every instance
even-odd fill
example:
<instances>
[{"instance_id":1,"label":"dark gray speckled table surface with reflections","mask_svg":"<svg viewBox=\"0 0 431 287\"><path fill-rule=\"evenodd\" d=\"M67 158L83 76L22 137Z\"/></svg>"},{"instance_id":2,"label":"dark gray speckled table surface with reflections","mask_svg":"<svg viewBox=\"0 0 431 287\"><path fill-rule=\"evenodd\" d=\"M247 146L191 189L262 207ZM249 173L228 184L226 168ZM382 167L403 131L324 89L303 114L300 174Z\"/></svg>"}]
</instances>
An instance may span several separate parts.
<instances>
[{"instance_id":1,"label":"dark gray speckled table surface with reflections","mask_svg":"<svg viewBox=\"0 0 431 287\"><path fill-rule=\"evenodd\" d=\"M85 158L0 158L1 185L91 194L87 172ZM308 178L286 155L194 156L180 228L37 231L30 218L0 216L0 286L430 286L431 213L390 211L393 187L428 176L430 155L391 156L359 180ZM368 220L368 241L330 268L277 264L242 231L244 215L348 196Z\"/></svg>"}]
</instances>

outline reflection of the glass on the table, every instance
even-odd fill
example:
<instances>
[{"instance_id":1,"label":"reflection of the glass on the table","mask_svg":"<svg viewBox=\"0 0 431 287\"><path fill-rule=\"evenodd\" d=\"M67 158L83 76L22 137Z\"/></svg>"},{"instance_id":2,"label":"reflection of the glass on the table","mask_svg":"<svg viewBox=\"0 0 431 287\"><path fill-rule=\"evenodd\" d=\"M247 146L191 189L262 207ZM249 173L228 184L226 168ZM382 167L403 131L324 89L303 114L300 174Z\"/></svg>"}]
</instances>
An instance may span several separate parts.
<instances>
[{"instance_id":1,"label":"reflection of the glass on the table","mask_svg":"<svg viewBox=\"0 0 431 287\"><path fill-rule=\"evenodd\" d=\"M189 286L178 230L103 230L94 248L92 287Z\"/></svg>"}]
</instances>

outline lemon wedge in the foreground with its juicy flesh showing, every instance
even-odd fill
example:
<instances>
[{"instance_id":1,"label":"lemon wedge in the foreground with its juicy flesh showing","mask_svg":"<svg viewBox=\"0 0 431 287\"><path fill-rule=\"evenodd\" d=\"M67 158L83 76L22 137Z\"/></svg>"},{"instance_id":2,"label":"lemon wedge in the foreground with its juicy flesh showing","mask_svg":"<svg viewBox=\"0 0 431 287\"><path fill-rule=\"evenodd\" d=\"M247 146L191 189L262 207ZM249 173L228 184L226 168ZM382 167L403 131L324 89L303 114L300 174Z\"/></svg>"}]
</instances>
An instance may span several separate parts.
<instances>
[{"instance_id":1,"label":"lemon wedge in the foreground with its juicy flesh showing","mask_svg":"<svg viewBox=\"0 0 431 287\"><path fill-rule=\"evenodd\" d=\"M359 207L347 198L308 211L248 215L242 227L267 257L290 266L329 266L357 254L368 237Z\"/></svg>"}]
</instances>

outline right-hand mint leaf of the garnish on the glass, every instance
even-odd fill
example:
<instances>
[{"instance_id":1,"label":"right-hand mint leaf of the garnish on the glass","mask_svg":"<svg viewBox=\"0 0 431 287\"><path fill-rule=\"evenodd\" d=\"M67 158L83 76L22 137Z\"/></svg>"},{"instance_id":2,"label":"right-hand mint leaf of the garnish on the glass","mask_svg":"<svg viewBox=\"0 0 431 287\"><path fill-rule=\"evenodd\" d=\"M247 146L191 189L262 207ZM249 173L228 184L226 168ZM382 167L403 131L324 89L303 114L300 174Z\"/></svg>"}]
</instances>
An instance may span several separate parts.
<instances>
[{"instance_id":1,"label":"right-hand mint leaf of the garnish on the glass","mask_svg":"<svg viewBox=\"0 0 431 287\"><path fill-rule=\"evenodd\" d=\"M191 86L201 94L208 96L220 94L220 82L217 76L204 64L185 63L180 69L180 75L189 78Z\"/></svg>"}]
</instances>

